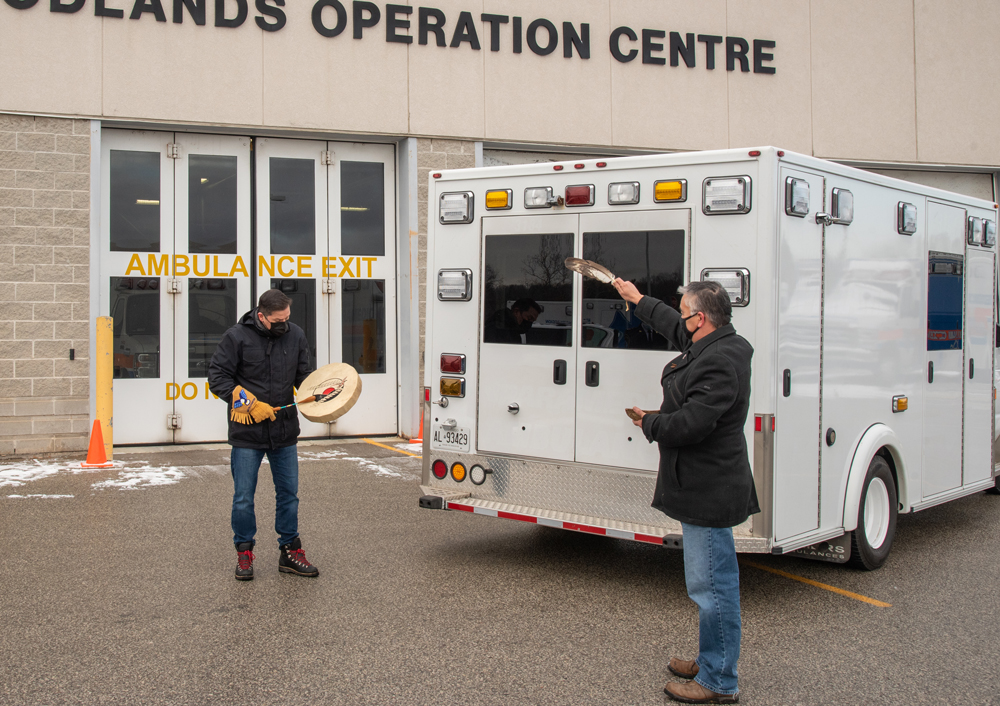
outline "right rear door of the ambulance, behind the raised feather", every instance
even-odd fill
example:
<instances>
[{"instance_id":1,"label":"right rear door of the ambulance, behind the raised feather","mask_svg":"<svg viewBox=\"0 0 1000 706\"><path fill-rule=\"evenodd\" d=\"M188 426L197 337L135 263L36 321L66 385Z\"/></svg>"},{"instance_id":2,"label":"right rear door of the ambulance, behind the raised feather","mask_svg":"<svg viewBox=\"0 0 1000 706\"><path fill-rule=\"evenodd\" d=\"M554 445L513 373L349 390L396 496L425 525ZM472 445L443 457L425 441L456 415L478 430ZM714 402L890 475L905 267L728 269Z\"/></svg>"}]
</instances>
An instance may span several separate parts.
<instances>
[{"instance_id":1,"label":"right rear door of the ambulance, behind the raised feather","mask_svg":"<svg viewBox=\"0 0 1000 706\"><path fill-rule=\"evenodd\" d=\"M639 291L677 307L686 281L690 211L580 217L581 254ZM659 409L663 367L677 348L639 321L610 284L576 276L582 297L577 355L576 460L655 471L659 450L625 410Z\"/></svg>"}]
</instances>

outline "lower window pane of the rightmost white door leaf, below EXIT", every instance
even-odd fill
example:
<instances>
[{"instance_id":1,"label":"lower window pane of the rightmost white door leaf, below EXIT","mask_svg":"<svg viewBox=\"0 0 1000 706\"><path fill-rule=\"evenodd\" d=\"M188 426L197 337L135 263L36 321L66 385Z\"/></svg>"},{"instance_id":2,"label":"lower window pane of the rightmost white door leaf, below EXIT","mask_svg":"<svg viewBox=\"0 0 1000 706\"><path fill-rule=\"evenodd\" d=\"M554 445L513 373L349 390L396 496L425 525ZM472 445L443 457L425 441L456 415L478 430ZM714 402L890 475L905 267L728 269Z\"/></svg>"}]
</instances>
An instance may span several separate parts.
<instances>
[{"instance_id":1,"label":"lower window pane of the rightmost white door leaf, below EXIT","mask_svg":"<svg viewBox=\"0 0 1000 706\"><path fill-rule=\"evenodd\" d=\"M359 373L384 373L385 280L341 282L344 362Z\"/></svg>"}]
</instances>

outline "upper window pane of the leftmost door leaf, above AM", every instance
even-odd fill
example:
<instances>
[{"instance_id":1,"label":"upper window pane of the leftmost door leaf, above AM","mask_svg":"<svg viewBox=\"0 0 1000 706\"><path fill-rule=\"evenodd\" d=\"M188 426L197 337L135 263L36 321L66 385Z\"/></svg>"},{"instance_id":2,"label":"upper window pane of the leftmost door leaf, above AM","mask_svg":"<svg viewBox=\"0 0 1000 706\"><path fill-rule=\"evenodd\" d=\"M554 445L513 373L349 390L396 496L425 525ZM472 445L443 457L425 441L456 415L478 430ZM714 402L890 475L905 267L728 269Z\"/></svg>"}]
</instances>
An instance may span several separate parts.
<instances>
[{"instance_id":1,"label":"upper window pane of the leftmost door leaf, above AM","mask_svg":"<svg viewBox=\"0 0 1000 706\"><path fill-rule=\"evenodd\" d=\"M160 251L160 153L111 150L112 252Z\"/></svg>"}]
</instances>

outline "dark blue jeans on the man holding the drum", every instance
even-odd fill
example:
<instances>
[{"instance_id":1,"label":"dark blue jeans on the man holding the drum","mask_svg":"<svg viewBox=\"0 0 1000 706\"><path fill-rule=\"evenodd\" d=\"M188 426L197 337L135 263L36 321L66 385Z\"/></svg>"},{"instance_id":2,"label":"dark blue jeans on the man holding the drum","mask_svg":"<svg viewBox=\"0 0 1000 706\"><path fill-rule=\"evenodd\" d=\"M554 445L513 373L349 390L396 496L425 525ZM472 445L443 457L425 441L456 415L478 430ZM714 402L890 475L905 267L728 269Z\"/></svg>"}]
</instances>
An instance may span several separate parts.
<instances>
[{"instance_id":1,"label":"dark blue jeans on the man holding the drum","mask_svg":"<svg viewBox=\"0 0 1000 706\"><path fill-rule=\"evenodd\" d=\"M299 456L297 446L282 449L244 449L233 447L229 465L233 472L233 543L253 542L257 534L257 516L253 496L257 491L257 472L267 454L274 479L274 531L278 546L299 536Z\"/></svg>"}]
</instances>

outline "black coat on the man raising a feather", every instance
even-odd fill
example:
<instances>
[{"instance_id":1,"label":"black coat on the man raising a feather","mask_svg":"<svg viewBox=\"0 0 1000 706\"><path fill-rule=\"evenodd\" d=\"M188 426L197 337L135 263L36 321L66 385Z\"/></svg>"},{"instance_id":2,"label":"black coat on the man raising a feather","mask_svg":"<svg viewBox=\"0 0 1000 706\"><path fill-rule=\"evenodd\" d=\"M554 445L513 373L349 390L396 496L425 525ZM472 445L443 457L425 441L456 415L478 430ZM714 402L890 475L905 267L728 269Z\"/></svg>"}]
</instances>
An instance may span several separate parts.
<instances>
[{"instance_id":1,"label":"black coat on the man raising a feather","mask_svg":"<svg viewBox=\"0 0 1000 706\"><path fill-rule=\"evenodd\" d=\"M753 348L732 324L692 343L680 314L652 297L636 316L682 351L663 369L660 413L642 419L660 447L652 505L691 525L734 527L760 512L744 433Z\"/></svg>"}]
</instances>

